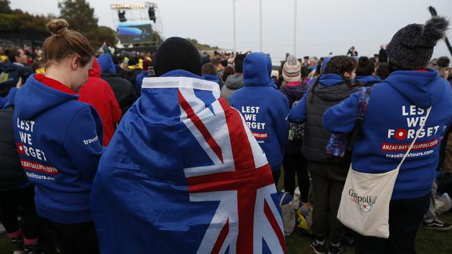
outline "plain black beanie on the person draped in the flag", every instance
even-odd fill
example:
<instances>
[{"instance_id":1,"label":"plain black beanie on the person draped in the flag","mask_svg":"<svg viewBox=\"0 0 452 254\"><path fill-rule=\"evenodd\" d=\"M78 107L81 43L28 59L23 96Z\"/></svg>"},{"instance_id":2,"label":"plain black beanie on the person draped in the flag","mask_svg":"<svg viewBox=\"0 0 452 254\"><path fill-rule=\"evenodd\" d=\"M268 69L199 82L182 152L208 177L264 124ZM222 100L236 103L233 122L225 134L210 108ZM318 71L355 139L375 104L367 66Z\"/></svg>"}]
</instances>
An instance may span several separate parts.
<instances>
[{"instance_id":1,"label":"plain black beanie on the person draped in the flag","mask_svg":"<svg viewBox=\"0 0 452 254\"><path fill-rule=\"evenodd\" d=\"M200 53L191 42L181 37L166 39L155 53L154 71L158 77L175 69L201 76L201 67Z\"/></svg>"}]
</instances>

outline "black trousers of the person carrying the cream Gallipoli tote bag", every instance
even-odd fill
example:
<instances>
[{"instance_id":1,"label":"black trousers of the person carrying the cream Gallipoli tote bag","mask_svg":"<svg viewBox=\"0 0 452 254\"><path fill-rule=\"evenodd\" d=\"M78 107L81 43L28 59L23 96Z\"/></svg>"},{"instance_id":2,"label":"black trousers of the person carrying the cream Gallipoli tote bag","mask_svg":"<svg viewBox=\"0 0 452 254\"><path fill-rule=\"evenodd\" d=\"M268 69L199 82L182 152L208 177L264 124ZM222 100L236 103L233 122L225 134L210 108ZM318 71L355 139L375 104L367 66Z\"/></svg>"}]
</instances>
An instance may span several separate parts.
<instances>
[{"instance_id":1,"label":"black trousers of the person carrying the cream Gallipoli tote bag","mask_svg":"<svg viewBox=\"0 0 452 254\"><path fill-rule=\"evenodd\" d=\"M430 205L430 194L421 198L389 203L389 239L357 235L357 254L414 254L414 241L423 214Z\"/></svg>"}]
</instances>

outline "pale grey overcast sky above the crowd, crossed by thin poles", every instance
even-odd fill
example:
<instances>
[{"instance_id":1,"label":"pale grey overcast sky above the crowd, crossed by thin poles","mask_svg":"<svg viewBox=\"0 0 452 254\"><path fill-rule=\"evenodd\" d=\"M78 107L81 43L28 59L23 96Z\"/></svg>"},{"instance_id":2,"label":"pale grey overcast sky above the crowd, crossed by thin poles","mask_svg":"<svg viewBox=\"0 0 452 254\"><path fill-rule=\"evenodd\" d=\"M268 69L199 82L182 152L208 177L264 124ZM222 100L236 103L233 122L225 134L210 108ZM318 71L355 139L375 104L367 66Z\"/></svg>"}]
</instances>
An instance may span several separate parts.
<instances>
[{"instance_id":1,"label":"pale grey overcast sky above the crowd, crossed by thin poles","mask_svg":"<svg viewBox=\"0 0 452 254\"><path fill-rule=\"evenodd\" d=\"M273 61L293 53L294 0L261 0L263 51ZM10 0L12 8L35 14L59 14L58 0ZM99 25L113 27L111 3L143 4L136 0L89 0ZM234 48L233 0L154 0L160 10L165 37L192 37L198 42ZM298 0L297 47L302 56L345 54L354 45L360 56L378 53L398 29L423 24L434 6L452 19L451 0ZM239 51L259 51L259 0L236 0L236 33ZM452 39L452 32L449 31ZM450 56L439 42L434 56Z\"/></svg>"}]
</instances>

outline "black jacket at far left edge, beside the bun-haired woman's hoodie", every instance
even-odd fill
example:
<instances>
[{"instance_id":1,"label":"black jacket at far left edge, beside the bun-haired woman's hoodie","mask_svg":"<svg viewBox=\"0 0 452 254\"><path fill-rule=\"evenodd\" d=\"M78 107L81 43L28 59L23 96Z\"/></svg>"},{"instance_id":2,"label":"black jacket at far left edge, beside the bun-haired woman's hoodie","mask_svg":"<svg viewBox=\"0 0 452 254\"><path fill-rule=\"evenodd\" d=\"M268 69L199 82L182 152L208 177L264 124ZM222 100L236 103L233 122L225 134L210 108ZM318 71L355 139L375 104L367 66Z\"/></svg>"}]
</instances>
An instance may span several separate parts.
<instances>
[{"instance_id":1,"label":"black jacket at far left edge, beside the bun-haired woman's hoodie","mask_svg":"<svg viewBox=\"0 0 452 254\"><path fill-rule=\"evenodd\" d=\"M13 112L13 106L0 110L0 192L28 183L17 154Z\"/></svg>"}]
</instances>

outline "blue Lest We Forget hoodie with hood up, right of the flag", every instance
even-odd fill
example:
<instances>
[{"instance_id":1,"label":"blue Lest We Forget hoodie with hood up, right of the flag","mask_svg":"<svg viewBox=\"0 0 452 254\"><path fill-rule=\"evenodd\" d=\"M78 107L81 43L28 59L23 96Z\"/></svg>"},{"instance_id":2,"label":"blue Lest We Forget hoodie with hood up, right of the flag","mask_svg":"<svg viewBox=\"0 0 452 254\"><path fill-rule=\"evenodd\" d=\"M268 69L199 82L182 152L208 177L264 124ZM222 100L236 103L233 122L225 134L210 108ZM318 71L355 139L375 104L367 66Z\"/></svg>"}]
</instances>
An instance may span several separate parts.
<instances>
[{"instance_id":1,"label":"blue Lest We Forget hoodie with hood up, right of the flag","mask_svg":"<svg viewBox=\"0 0 452 254\"><path fill-rule=\"evenodd\" d=\"M245 86L232 94L230 103L245 118L264 150L273 171L280 169L284 145L289 136L289 102L270 85L271 60L264 53L252 53L243 62Z\"/></svg>"}]
</instances>

